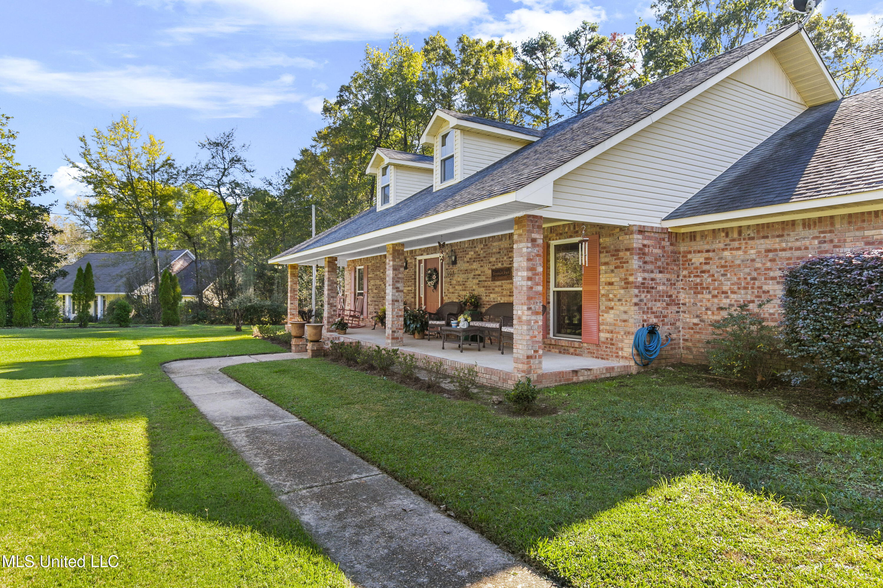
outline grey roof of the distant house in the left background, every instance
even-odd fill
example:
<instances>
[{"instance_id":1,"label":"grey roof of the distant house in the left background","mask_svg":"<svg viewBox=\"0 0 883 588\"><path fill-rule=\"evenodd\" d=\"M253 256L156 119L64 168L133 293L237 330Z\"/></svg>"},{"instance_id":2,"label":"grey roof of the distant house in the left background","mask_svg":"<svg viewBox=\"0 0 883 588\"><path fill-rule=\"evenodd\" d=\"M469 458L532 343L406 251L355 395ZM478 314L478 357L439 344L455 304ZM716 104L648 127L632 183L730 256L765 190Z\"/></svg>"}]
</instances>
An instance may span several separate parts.
<instances>
[{"instance_id":1,"label":"grey roof of the distant house in the left background","mask_svg":"<svg viewBox=\"0 0 883 588\"><path fill-rule=\"evenodd\" d=\"M158 253L160 268L166 268L172 261L188 252L186 249L172 249ZM77 277L77 268L85 270L87 263L92 264L96 293L125 294L153 277L153 272L150 270L150 252L87 253L62 268L67 271L67 275L55 281L55 290L61 294L71 293L73 281ZM147 279L143 279L145 275Z\"/></svg>"}]
</instances>

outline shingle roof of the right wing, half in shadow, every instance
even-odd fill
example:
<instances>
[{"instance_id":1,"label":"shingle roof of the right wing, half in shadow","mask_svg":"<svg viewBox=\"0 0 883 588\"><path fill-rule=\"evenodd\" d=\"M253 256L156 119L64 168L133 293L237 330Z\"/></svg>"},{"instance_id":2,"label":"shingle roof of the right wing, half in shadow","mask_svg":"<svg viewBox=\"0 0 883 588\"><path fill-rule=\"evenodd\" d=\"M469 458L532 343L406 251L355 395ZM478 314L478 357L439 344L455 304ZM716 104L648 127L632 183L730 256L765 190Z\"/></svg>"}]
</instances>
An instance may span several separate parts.
<instances>
[{"instance_id":1,"label":"shingle roof of the right wing, half in shadow","mask_svg":"<svg viewBox=\"0 0 883 588\"><path fill-rule=\"evenodd\" d=\"M665 220L883 188L883 88L806 109Z\"/></svg>"}]
</instances>

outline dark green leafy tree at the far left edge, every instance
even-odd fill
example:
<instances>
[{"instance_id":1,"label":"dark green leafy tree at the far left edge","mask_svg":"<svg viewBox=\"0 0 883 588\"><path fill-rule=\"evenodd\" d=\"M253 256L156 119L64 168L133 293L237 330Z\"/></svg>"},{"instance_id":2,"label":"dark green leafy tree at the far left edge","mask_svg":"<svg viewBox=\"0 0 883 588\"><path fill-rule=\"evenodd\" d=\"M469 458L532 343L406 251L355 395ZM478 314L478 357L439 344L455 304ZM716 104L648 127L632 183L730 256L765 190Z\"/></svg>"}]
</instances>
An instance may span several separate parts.
<instances>
[{"instance_id":1,"label":"dark green leafy tree at the far left edge","mask_svg":"<svg viewBox=\"0 0 883 588\"><path fill-rule=\"evenodd\" d=\"M50 208L31 200L44 197L52 186L40 171L15 161L18 133L9 128L10 120L0 114L0 269L9 283L16 283L28 268L34 312L41 316L55 307L52 283L66 274L52 246L58 230L49 224Z\"/></svg>"}]
</instances>

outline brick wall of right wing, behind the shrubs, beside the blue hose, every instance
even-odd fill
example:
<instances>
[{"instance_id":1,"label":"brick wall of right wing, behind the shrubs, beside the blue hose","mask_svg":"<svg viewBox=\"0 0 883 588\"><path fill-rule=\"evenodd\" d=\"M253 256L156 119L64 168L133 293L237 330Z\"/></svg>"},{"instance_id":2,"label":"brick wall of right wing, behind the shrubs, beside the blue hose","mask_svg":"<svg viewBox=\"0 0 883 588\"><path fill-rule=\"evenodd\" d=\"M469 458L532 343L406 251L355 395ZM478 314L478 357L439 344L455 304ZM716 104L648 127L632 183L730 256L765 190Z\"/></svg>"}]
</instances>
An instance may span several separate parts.
<instances>
[{"instance_id":1,"label":"brick wall of right wing, behind the shrubs, beside the blue hose","mask_svg":"<svg viewBox=\"0 0 883 588\"><path fill-rule=\"evenodd\" d=\"M675 234L681 256L683 361L706 363L720 306L773 298L766 320L781 318L781 269L813 255L883 246L883 211L695 230Z\"/></svg>"}]
</instances>

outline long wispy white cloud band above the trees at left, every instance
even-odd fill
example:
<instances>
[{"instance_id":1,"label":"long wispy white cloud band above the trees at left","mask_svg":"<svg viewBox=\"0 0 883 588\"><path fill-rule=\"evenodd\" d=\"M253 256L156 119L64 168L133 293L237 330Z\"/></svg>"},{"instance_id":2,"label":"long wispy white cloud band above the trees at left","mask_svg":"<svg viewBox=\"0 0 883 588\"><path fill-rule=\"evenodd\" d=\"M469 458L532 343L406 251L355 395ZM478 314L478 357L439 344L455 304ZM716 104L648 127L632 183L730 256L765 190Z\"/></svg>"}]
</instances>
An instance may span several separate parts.
<instances>
[{"instance_id":1,"label":"long wispy white cloud band above the trees at left","mask_svg":"<svg viewBox=\"0 0 883 588\"><path fill-rule=\"evenodd\" d=\"M95 72L50 72L32 59L0 58L0 90L61 94L108 106L189 109L204 117L253 117L260 109L302 102L283 75L256 86L177 78L156 67L127 66Z\"/></svg>"}]
</instances>

